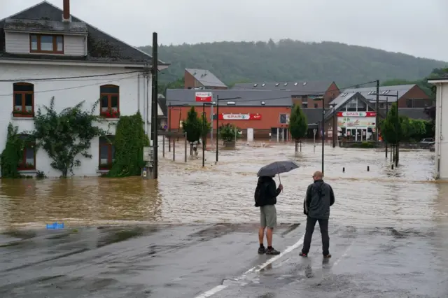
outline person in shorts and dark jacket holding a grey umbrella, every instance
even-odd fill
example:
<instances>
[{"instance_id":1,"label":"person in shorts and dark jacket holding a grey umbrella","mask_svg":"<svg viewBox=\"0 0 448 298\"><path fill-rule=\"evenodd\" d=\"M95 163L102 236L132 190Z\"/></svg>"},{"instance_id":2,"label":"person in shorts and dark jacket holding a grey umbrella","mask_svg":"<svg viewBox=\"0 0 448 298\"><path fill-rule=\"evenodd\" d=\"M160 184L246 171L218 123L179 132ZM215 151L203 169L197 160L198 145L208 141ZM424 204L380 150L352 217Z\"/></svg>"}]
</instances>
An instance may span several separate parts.
<instances>
[{"instance_id":1,"label":"person in shorts and dark jacket holding a grey umbrella","mask_svg":"<svg viewBox=\"0 0 448 298\"><path fill-rule=\"evenodd\" d=\"M277 225L277 213L275 204L277 197L283 190L281 181L279 187L275 185L274 177L279 173L286 173L292 169L297 169L298 165L295 162L273 162L267 166L263 166L258 171L258 183L255 188L255 207L260 207L260 229L258 229L258 240L260 241L260 248L258 253L266 255L279 255L279 250L272 247L272 234ZM280 180L280 175L279 175ZM267 249L264 245L265 229L267 239Z\"/></svg>"}]
</instances>

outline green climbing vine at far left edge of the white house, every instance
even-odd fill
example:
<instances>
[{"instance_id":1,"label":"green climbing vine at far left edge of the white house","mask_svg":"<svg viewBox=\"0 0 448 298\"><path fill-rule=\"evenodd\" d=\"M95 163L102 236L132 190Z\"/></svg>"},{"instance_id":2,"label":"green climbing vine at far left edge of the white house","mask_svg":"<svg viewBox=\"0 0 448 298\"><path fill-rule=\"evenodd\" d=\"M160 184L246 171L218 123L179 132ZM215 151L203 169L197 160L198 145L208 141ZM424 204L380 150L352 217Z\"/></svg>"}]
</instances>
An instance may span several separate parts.
<instances>
[{"instance_id":1,"label":"green climbing vine at far left edge of the white house","mask_svg":"<svg viewBox=\"0 0 448 298\"><path fill-rule=\"evenodd\" d=\"M21 137L18 134L18 127L9 123L6 146L0 156L1 178L21 177L18 164L23 156L23 150L30 140L29 136Z\"/></svg>"}]
</instances>

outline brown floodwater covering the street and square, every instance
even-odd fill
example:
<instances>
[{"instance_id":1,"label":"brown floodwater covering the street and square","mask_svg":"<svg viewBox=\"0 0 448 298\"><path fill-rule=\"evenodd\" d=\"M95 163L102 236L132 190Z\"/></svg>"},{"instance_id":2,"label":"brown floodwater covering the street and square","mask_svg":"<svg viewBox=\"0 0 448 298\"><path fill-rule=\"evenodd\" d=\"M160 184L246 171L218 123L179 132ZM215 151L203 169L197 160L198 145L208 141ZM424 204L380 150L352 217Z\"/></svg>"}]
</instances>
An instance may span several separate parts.
<instances>
[{"instance_id":1,"label":"brown floodwater covering the street and square","mask_svg":"<svg viewBox=\"0 0 448 298\"><path fill-rule=\"evenodd\" d=\"M162 146L162 142L160 142ZM213 147L213 146L211 146ZM183 141L176 161L160 148L159 178L69 178L0 180L0 229L144 224L149 222L257 222L253 206L261 166L293 159L300 168L281 175L284 190L277 204L279 222L304 219L302 201L312 173L321 169L321 145L238 144L236 150L201 153L184 162ZM325 180L335 190L332 219L353 225L421 225L445 221L448 184L433 181L433 152L402 150L391 169L384 150L331 148L325 145ZM367 171L370 166L370 171ZM345 172L342 171L345 168ZM276 178L278 183L278 178Z\"/></svg>"}]
</instances>

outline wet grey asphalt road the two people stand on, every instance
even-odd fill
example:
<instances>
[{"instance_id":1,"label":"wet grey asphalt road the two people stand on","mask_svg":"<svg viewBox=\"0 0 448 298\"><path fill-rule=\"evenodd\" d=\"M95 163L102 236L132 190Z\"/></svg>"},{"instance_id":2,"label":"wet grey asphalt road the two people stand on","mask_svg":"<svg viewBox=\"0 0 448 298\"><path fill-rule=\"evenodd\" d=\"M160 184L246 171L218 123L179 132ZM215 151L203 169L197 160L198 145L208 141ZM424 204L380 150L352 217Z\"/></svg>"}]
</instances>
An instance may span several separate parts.
<instances>
[{"instance_id":1,"label":"wet grey asphalt road the two people stand on","mask_svg":"<svg viewBox=\"0 0 448 298\"><path fill-rule=\"evenodd\" d=\"M399 226L331 223L328 262L318 227L298 256L297 224L276 230L273 262L254 224L1 234L0 297L448 297L447 225Z\"/></svg>"}]
</instances>

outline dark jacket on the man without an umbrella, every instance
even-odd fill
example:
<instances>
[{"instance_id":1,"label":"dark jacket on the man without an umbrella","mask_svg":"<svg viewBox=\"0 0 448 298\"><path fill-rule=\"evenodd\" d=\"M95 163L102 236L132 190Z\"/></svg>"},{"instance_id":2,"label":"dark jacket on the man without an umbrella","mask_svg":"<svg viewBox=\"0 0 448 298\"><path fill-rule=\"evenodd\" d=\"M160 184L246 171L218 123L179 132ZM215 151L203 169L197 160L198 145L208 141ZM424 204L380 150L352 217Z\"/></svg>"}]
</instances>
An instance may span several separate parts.
<instances>
[{"instance_id":1,"label":"dark jacket on the man without an umbrella","mask_svg":"<svg viewBox=\"0 0 448 298\"><path fill-rule=\"evenodd\" d=\"M310 218L328 220L332 204L335 204L332 187L323 180L316 180L308 186L307 196L303 201L303 213Z\"/></svg>"}]
</instances>

